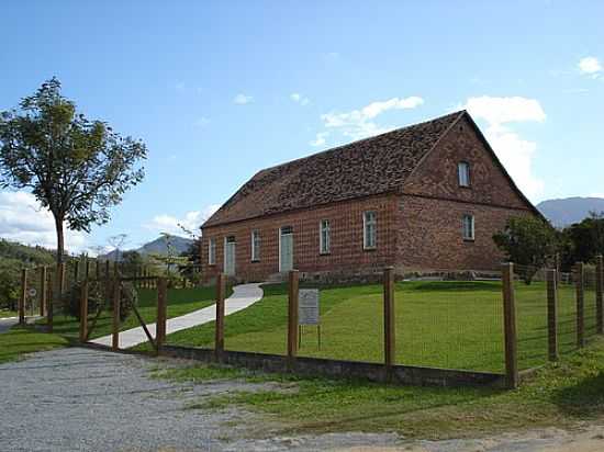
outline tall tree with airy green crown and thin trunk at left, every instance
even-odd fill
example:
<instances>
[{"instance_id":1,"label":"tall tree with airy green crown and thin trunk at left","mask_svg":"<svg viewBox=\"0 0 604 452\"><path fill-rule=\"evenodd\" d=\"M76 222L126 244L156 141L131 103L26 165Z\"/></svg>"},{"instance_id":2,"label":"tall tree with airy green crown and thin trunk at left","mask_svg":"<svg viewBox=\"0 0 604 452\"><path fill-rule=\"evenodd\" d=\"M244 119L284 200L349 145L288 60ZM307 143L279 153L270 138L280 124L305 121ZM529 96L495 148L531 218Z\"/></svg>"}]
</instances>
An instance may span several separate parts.
<instances>
[{"instance_id":1,"label":"tall tree with airy green crown and thin trunk at left","mask_svg":"<svg viewBox=\"0 0 604 452\"><path fill-rule=\"evenodd\" d=\"M146 146L123 138L102 121L88 120L60 93L53 78L0 113L0 183L29 190L53 214L57 262L63 262L64 225L90 231L144 178Z\"/></svg>"}]
</instances>

